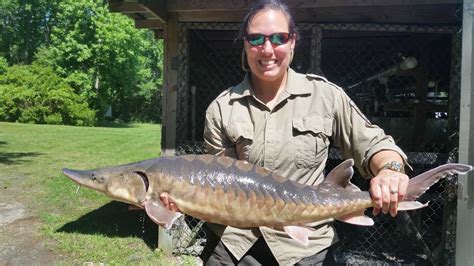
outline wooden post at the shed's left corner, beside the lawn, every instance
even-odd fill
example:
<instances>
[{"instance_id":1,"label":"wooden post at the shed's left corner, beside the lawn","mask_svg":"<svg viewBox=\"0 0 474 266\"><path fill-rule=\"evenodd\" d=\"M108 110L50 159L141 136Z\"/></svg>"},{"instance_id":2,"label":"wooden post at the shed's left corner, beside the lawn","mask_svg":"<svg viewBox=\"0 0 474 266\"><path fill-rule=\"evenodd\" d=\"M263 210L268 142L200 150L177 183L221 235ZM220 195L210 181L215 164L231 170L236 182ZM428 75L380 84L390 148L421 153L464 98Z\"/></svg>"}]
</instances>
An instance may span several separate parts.
<instances>
[{"instance_id":1,"label":"wooden post at the shed's left corner, beside the lawn","mask_svg":"<svg viewBox=\"0 0 474 266\"><path fill-rule=\"evenodd\" d=\"M170 13L164 27L164 64L163 64L163 125L161 150L162 155L175 155L176 148L176 99L178 71L173 64L178 56L178 14ZM174 249L171 231L158 227L158 248L166 255Z\"/></svg>"}]
</instances>

